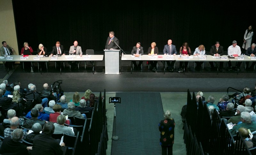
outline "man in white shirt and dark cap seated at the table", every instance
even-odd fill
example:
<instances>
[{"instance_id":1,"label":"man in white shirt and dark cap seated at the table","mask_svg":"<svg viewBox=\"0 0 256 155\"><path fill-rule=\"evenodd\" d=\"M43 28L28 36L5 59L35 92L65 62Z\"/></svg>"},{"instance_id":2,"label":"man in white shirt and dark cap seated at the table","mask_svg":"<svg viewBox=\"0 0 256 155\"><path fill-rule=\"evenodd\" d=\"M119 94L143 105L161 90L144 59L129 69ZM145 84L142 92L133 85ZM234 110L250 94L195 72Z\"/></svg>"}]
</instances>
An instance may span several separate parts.
<instances>
[{"instance_id":1,"label":"man in white shirt and dark cap seated at the table","mask_svg":"<svg viewBox=\"0 0 256 155\"><path fill-rule=\"evenodd\" d=\"M232 42L232 45L228 47L228 55L233 55L233 54L237 54L237 55L241 55L241 48L237 45L236 41ZM237 62L236 63L236 70L240 70L240 65L242 62ZM228 70L232 70L232 65L231 62L228 62Z\"/></svg>"}]
</instances>

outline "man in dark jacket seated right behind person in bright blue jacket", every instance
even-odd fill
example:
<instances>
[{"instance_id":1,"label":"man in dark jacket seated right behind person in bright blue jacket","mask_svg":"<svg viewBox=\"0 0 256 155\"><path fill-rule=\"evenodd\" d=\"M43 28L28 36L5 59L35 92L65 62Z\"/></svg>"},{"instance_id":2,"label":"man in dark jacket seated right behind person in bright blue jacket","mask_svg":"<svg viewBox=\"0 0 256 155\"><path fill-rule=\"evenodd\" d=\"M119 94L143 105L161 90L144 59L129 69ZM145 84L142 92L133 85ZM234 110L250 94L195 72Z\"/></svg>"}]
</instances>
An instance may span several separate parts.
<instances>
[{"instance_id":1,"label":"man in dark jacket seated right behind person in bright blue jacket","mask_svg":"<svg viewBox=\"0 0 256 155\"><path fill-rule=\"evenodd\" d=\"M39 115L38 113L38 109L36 107L33 107L32 110L31 110L31 117L30 119L26 120L23 124L23 127L24 128L27 128L27 129L31 129L33 124L35 123L40 123L41 126L43 127L44 126L44 123L47 122L47 121L41 121L39 120L37 117Z\"/></svg>"}]
</instances>

